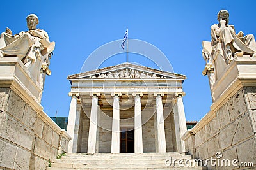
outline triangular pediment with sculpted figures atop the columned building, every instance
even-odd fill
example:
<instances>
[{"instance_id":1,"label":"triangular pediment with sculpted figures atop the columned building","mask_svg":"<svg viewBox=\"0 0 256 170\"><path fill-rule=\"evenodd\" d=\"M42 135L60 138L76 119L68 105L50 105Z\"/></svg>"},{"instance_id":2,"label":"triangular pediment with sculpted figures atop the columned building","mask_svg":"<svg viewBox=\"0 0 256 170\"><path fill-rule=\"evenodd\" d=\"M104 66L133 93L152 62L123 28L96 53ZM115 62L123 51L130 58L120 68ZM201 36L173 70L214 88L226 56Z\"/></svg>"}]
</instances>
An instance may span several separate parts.
<instances>
[{"instance_id":1,"label":"triangular pediment with sculpted figures atop the columned building","mask_svg":"<svg viewBox=\"0 0 256 170\"><path fill-rule=\"evenodd\" d=\"M104 67L93 71L73 74L70 79L90 79L90 78L175 78L184 80L186 76L177 73L170 73L150 67L138 66L131 63L119 64L111 67Z\"/></svg>"}]
</instances>

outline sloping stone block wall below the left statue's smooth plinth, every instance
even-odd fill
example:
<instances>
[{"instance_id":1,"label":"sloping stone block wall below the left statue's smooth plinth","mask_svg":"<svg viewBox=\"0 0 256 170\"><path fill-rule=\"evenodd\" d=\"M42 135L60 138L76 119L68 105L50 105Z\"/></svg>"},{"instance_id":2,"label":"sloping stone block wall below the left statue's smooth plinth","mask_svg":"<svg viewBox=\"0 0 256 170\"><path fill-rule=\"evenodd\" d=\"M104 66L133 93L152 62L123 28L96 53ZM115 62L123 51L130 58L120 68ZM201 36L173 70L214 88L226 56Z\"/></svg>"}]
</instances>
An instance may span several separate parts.
<instances>
[{"instance_id":1,"label":"sloping stone block wall below the left statue's smooth plinth","mask_svg":"<svg viewBox=\"0 0 256 170\"><path fill-rule=\"evenodd\" d=\"M0 169L46 169L70 136L9 87L0 88Z\"/></svg>"}]
</instances>

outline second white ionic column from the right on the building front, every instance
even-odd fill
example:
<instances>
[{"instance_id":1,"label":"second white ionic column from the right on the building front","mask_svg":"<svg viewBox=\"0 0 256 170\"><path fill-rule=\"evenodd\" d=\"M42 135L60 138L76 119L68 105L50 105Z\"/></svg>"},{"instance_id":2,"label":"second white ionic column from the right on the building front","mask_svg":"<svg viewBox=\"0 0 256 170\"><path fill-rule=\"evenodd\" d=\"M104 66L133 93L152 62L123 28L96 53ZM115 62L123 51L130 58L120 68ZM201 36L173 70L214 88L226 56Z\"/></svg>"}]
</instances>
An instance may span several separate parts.
<instances>
[{"instance_id":1,"label":"second white ionic column from the right on the building front","mask_svg":"<svg viewBox=\"0 0 256 170\"><path fill-rule=\"evenodd\" d=\"M166 139L164 131L164 112L162 97L164 93L154 93L156 96L156 123L157 123L157 147L158 153L166 153Z\"/></svg>"}]
</instances>

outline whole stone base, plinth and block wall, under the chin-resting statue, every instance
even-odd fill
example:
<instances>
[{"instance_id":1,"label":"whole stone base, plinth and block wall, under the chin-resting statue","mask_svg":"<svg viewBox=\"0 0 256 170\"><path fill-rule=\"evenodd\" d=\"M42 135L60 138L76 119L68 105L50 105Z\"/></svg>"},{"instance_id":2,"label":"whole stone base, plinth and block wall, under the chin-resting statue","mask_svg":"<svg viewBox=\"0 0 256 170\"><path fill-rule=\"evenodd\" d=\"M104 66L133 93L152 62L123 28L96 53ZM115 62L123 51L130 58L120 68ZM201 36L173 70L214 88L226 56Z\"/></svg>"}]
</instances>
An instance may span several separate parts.
<instances>
[{"instance_id":1,"label":"whole stone base, plinth and block wall, under the chin-resting statue","mask_svg":"<svg viewBox=\"0 0 256 170\"><path fill-rule=\"evenodd\" d=\"M221 160L236 159L255 166L256 57L235 57L221 70L211 87L211 111L182 136L186 152L202 160L221 152ZM237 168L239 164L230 166Z\"/></svg>"}]
</instances>

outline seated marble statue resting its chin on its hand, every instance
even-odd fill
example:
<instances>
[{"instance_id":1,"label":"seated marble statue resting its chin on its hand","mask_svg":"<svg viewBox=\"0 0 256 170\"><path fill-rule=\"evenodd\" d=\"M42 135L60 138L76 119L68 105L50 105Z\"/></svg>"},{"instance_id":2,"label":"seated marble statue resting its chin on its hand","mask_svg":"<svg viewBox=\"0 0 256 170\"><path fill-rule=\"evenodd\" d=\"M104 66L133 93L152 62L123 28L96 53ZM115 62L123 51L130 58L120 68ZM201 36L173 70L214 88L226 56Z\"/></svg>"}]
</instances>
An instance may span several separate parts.
<instances>
[{"instance_id":1,"label":"seated marble statue resting its chin on its hand","mask_svg":"<svg viewBox=\"0 0 256 170\"><path fill-rule=\"evenodd\" d=\"M218 43L221 43L221 50L219 50L226 64L229 64L236 54L237 56L247 54L255 57L256 43L254 36L251 34L244 36L242 31L236 34L234 25L228 25L228 17L227 10L220 10L218 13L219 23L211 26L212 50L218 47Z\"/></svg>"}]
</instances>

